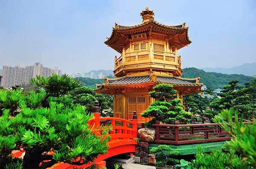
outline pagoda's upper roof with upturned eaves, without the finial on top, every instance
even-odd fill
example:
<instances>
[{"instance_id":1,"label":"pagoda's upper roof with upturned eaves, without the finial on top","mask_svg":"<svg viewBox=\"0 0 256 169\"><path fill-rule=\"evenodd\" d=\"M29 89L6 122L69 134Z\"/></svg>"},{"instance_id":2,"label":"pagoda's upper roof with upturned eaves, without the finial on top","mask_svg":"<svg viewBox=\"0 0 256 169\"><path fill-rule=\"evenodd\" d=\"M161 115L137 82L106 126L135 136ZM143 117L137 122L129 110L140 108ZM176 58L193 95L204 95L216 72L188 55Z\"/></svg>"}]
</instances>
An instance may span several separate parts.
<instances>
[{"instance_id":1,"label":"pagoda's upper roof with upturned eaves, without the finial on top","mask_svg":"<svg viewBox=\"0 0 256 169\"><path fill-rule=\"evenodd\" d=\"M104 43L116 50L117 52L122 53L124 43L128 42L129 39L131 39L128 36L129 34L143 33L152 29L153 32L157 32L160 34L172 34L173 39L176 39L180 42L180 44L177 44L175 46L175 48L179 50L180 48L183 48L184 46L189 45L192 42L188 36L189 27L186 27L185 24L186 23L183 23L181 25L163 25L154 20L131 26L119 25L115 23L115 27L113 27L110 37L107 37L107 40ZM151 25L153 26L153 28L151 28ZM177 34L179 36L176 37L175 35Z\"/></svg>"}]
</instances>

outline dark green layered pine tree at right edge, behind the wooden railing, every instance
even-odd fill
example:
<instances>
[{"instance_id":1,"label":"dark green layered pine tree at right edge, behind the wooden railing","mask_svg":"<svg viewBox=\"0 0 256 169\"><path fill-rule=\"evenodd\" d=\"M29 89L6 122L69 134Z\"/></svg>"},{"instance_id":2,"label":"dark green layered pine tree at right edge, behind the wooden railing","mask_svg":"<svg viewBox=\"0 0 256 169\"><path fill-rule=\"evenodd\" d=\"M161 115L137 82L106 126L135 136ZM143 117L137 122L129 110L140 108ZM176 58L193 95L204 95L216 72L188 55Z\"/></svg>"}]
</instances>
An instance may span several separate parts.
<instances>
[{"instance_id":1,"label":"dark green layered pine tree at right edge, behind the wooden railing","mask_svg":"<svg viewBox=\"0 0 256 169\"><path fill-rule=\"evenodd\" d=\"M239 115L245 118L252 118L256 114L256 101L251 95L251 86L239 86L238 80L230 81L221 90L220 99L214 99L210 106L220 112L222 109L230 109L233 107L239 111Z\"/></svg>"}]
</instances>

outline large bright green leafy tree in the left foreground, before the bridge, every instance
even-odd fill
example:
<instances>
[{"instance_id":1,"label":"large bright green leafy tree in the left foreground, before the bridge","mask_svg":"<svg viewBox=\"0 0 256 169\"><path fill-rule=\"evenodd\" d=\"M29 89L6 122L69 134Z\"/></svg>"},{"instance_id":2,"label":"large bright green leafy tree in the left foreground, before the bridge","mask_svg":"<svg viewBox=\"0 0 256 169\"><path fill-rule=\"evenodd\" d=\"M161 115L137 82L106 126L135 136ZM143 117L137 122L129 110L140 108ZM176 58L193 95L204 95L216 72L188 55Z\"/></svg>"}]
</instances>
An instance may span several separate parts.
<instances>
[{"instance_id":1,"label":"large bright green leafy tree in the left foreground, before the bridge","mask_svg":"<svg viewBox=\"0 0 256 169\"><path fill-rule=\"evenodd\" d=\"M40 90L39 93L30 92L24 96L20 90L0 90L1 169L45 169L58 161L82 165L107 152L106 143L110 137L96 136L87 124L93 115L84 113L85 106L74 105L70 101L71 95L67 91L77 86L73 79L70 81L65 76L48 79L39 77L32 81L38 86L45 84L48 93ZM52 92L53 89L61 91ZM59 97L49 96L49 107L43 108L40 101L47 94ZM17 112L17 115L9 118L13 112ZM111 129L101 126L96 130L104 134ZM11 156L12 150L20 148L26 151L23 162ZM54 155L45 152L54 152ZM42 165L39 167L40 163Z\"/></svg>"}]
</instances>

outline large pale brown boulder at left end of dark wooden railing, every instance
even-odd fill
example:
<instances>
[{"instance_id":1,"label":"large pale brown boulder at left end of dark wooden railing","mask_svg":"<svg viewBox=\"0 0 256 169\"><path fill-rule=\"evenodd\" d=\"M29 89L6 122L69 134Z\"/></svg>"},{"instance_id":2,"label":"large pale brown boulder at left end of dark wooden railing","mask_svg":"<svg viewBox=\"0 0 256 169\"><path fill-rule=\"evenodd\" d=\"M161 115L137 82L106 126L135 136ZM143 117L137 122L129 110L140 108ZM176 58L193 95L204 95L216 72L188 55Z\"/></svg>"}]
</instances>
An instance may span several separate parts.
<instances>
[{"instance_id":1,"label":"large pale brown boulder at left end of dark wooden railing","mask_svg":"<svg viewBox=\"0 0 256 169\"><path fill-rule=\"evenodd\" d=\"M142 141L153 142L156 139L156 130L152 128L142 128L138 130L139 137Z\"/></svg>"}]
</instances>

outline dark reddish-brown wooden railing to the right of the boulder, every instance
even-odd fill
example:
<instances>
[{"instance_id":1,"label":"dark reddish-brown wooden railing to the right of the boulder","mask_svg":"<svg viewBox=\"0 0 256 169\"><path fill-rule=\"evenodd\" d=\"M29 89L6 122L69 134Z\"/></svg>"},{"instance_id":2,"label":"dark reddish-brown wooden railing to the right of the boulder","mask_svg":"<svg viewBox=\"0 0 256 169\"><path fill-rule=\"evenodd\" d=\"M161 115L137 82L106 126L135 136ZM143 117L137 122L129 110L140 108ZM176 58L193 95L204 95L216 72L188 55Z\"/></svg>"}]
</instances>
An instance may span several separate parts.
<instances>
[{"instance_id":1,"label":"dark reddish-brown wooden railing to the right of the boulder","mask_svg":"<svg viewBox=\"0 0 256 169\"><path fill-rule=\"evenodd\" d=\"M180 145L231 139L230 134L217 123L178 124L176 121L175 124L160 124L157 121L153 127L156 129L155 143Z\"/></svg>"}]
</instances>

